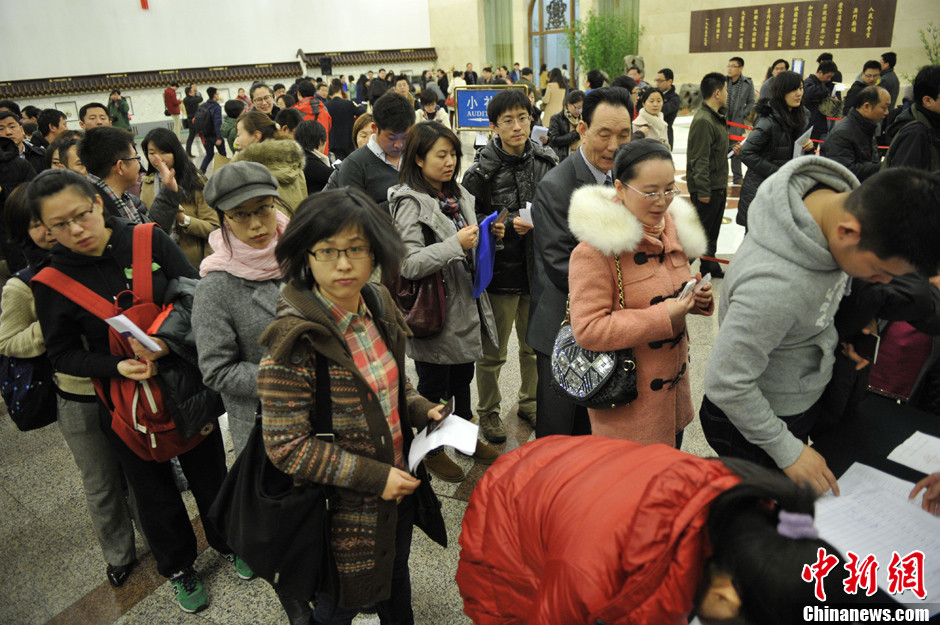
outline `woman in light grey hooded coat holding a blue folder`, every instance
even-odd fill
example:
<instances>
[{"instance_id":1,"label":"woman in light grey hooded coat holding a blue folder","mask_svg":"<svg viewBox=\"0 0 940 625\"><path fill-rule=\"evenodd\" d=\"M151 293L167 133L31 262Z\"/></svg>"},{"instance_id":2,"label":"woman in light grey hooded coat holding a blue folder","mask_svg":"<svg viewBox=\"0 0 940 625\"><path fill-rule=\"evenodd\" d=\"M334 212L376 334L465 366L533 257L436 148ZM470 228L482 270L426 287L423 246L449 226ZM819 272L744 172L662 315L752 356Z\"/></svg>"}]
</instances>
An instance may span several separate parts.
<instances>
[{"instance_id":1,"label":"woman in light grey hooded coat holding a blue folder","mask_svg":"<svg viewBox=\"0 0 940 625\"><path fill-rule=\"evenodd\" d=\"M412 126L400 161L400 184L389 191L389 209L405 242L401 276L420 280L441 271L444 278L444 328L431 337L408 339L418 392L435 401L453 397L454 414L469 420L474 363L483 357L483 341L498 346L499 339L486 292L473 298L480 227L473 196L457 182L460 156L460 140L449 128L434 122ZM505 231L504 224L493 225L497 238ZM495 449L477 442L477 462L492 464L498 456ZM425 463L444 481L466 477L443 449L431 452Z\"/></svg>"}]
</instances>

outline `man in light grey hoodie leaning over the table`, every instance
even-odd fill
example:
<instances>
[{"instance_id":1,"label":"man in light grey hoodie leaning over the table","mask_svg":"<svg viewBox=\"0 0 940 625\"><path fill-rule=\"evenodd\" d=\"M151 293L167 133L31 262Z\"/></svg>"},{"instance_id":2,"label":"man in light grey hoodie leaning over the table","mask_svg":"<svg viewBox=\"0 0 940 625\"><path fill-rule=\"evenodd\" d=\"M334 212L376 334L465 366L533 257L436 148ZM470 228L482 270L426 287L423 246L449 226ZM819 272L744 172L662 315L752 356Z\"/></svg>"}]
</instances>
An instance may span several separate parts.
<instances>
[{"instance_id":1,"label":"man in light grey hoodie leaning over the table","mask_svg":"<svg viewBox=\"0 0 940 625\"><path fill-rule=\"evenodd\" d=\"M764 181L752 207L722 285L702 428L720 455L838 494L825 459L806 444L838 347L833 317L850 277L937 274L940 177L902 168L859 186L842 165L804 157Z\"/></svg>"}]
</instances>

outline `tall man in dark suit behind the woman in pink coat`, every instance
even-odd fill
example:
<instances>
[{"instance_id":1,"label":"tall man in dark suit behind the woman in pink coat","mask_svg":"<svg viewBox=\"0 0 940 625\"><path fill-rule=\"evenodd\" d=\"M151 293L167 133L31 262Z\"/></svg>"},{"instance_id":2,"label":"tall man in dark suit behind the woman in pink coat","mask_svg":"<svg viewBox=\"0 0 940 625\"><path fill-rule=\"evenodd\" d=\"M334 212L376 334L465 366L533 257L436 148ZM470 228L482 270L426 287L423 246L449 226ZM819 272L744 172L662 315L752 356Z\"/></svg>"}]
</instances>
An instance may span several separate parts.
<instances>
[{"instance_id":1,"label":"tall man in dark suit behind the woman in pink coat","mask_svg":"<svg viewBox=\"0 0 940 625\"><path fill-rule=\"evenodd\" d=\"M542 178L532 200L535 271L526 343L535 350L539 375L538 438L591 432L587 409L558 397L549 387L552 347L568 299L568 260L578 244L568 229L568 202L579 187L613 184L614 152L630 141L632 110L626 89L602 87L587 94L578 123L581 147Z\"/></svg>"}]
</instances>

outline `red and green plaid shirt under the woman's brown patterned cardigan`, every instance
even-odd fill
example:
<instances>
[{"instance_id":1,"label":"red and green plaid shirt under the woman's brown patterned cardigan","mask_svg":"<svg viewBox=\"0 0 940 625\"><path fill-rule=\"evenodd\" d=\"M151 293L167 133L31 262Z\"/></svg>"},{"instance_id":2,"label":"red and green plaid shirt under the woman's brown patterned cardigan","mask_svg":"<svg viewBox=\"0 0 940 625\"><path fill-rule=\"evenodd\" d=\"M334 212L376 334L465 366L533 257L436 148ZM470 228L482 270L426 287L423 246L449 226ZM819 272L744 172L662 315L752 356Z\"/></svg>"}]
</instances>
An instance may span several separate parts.
<instances>
[{"instance_id":1,"label":"red and green plaid shirt under the woman's brown patterned cardigan","mask_svg":"<svg viewBox=\"0 0 940 625\"><path fill-rule=\"evenodd\" d=\"M339 331L346 339L346 345L349 346L353 362L378 396L388 421L388 429L392 433L395 466L405 470L401 418L398 413L398 365L395 363L395 357L382 340L375 322L372 321L372 313L362 296L359 297L358 314L354 314L328 300L319 289L315 288L313 292L336 321Z\"/></svg>"}]
</instances>

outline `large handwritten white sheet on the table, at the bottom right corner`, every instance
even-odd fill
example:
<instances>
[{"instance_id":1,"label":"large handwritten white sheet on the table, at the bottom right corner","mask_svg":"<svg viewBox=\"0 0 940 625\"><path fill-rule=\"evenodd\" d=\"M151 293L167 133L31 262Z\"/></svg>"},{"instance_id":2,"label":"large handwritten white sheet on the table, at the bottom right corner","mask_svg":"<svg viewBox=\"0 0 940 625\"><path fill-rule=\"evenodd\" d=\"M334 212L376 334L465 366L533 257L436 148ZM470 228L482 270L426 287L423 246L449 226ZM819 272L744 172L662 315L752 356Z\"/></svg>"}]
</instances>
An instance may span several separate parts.
<instances>
[{"instance_id":1,"label":"large handwritten white sheet on the table, at the bottom right corner","mask_svg":"<svg viewBox=\"0 0 940 625\"><path fill-rule=\"evenodd\" d=\"M816 527L820 537L843 554L851 551L860 558L873 554L878 560L878 586L885 592L892 553L896 551L903 558L922 551L927 598L921 601L910 590L892 597L907 604L930 602L931 612L940 610L936 603L940 593L940 518L907 505L890 492L870 487L819 499Z\"/></svg>"}]
</instances>

